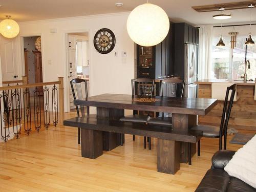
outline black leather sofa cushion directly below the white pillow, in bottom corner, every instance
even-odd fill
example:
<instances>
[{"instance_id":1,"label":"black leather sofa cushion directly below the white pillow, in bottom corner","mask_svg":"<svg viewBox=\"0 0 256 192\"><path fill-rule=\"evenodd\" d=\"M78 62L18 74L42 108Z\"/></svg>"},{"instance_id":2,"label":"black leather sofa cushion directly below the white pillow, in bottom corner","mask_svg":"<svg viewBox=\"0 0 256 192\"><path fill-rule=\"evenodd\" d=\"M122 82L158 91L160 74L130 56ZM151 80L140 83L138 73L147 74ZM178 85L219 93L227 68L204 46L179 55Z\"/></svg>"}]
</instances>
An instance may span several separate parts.
<instances>
[{"instance_id":1,"label":"black leather sofa cushion directly below the white pillow, in bottom corner","mask_svg":"<svg viewBox=\"0 0 256 192\"><path fill-rule=\"evenodd\" d=\"M228 192L244 192L244 191L255 192L256 189L236 177L231 177L227 191Z\"/></svg>"}]
</instances>

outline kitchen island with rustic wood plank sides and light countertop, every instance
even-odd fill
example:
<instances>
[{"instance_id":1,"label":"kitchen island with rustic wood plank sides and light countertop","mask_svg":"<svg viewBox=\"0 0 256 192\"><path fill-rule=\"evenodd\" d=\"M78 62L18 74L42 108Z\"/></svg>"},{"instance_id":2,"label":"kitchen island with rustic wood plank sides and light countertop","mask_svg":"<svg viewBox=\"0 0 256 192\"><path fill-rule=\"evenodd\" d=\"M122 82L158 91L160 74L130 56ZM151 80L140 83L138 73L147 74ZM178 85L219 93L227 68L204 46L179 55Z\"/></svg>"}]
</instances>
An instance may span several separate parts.
<instances>
[{"instance_id":1,"label":"kitchen island with rustic wood plank sides and light countertop","mask_svg":"<svg viewBox=\"0 0 256 192\"><path fill-rule=\"evenodd\" d=\"M228 128L256 131L256 100L254 100L254 81L227 80L227 79L203 79L198 82L198 97L211 98L211 84L237 83L239 99L233 102ZM206 116L199 116L198 123L219 126L221 122L224 101L218 100L218 104Z\"/></svg>"}]
</instances>

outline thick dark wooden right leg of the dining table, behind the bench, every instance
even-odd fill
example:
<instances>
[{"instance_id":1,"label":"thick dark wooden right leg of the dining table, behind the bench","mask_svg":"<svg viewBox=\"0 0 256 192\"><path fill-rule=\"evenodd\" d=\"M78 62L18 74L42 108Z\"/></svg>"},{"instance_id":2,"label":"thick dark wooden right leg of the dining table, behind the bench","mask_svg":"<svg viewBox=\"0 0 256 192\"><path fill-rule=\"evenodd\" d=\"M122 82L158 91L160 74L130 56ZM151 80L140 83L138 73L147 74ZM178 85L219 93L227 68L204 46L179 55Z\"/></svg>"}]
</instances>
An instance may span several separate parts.
<instances>
[{"instance_id":1,"label":"thick dark wooden right leg of the dining table, behind the bench","mask_svg":"<svg viewBox=\"0 0 256 192\"><path fill-rule=\"evenodd\" d=\"M173 113L172 121L173 121L174 131L187 132L192 126L197 124L197 116ZM188 143L181 142L180 152L181 152L180 162L187 163L188 162ZM193 156L195 153L196 153L196 143L191 143L191 156Z\"/></svg>"}]
</instances>

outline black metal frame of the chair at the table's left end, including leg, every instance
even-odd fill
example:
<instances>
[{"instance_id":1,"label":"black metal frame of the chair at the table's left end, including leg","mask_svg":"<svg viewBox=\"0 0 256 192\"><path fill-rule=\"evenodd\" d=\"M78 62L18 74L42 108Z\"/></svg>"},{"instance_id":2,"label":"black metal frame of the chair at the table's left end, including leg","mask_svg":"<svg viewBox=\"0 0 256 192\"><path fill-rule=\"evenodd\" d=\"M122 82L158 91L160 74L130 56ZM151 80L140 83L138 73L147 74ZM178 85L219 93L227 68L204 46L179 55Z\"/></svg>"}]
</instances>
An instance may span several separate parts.
<instances>
[{"instance_id":1,"label":"black metal frame of the chair at the table's left end, including leg","mask_svg":"<svg viewBox=\"0 0 256 192\"><path fill-rule=\"evenodd\" d=\"M82 83L82 82L84 82L84 86L85 86L85 90L86 90L85 97L88 98L87 80L86 79L75 78L75 79L72 79L70 81L70 86L71 86L71 89L72 89L72 94L73 94L74 100L76 99L76 94L75 94L75 90L74 90L73 84ZM76 87L76 88L78 88L78 87ZM80 84L79 89L80 89L79 91L82 91L81 84ZM78 90L77 90L77 93L78 93ZM78 105L75 105L75 106L76 106L77 116L80 117ZM90 110L89 109L90 109L89 106L87 106L87 115L90 114ZM83 117L84 116L84 107L82 106L80 108L80 110L81 110L81 116ZM78 127L77 132L78 132L78 144L80 144L80 127Z\"/></svg>"}]
</instances>

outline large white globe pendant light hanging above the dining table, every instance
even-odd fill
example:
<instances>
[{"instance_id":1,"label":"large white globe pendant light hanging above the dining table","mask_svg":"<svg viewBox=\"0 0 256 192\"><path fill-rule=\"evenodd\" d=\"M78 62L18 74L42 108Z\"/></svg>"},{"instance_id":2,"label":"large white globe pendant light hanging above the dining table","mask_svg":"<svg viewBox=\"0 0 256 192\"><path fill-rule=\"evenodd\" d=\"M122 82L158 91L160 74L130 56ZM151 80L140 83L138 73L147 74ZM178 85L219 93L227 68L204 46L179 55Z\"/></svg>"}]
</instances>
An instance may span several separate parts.
<instances>
[{"instance_id":1,"label":"large white globe pendant light hanging above the dining table","mask_svg":"<svg viewBox=\"0 0 256 192\"><path fill-rule=\"evenodd\" d=\"M169 31L169 18L165 11L154 4L136 7L126 23L131 39L140 46L150 47L162 42Z\"/></svg>"}]
</instances>

